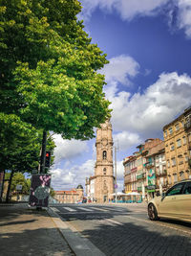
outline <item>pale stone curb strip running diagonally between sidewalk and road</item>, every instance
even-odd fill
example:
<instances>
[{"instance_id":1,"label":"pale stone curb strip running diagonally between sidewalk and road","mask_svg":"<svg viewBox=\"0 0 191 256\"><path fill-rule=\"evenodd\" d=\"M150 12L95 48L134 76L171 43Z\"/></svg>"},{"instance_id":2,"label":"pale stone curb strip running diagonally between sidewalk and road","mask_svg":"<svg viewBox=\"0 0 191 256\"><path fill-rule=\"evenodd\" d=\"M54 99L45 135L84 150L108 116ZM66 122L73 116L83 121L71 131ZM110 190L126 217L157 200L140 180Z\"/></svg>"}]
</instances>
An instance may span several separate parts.
<instances>
[{"instance_id":1,"label":"pale stone curb strip running diagonally between sidewalk and road","mask_svg":"<svg viewBox=\"0 0 191 256\"><path fill-rule=\"evenodd\" d=\"M62 221L60 216L51 208L47 212L76 256L105 256L95 244L83 237L74 227L72 228L65 221Z\"/></svg>"}]
</instances>

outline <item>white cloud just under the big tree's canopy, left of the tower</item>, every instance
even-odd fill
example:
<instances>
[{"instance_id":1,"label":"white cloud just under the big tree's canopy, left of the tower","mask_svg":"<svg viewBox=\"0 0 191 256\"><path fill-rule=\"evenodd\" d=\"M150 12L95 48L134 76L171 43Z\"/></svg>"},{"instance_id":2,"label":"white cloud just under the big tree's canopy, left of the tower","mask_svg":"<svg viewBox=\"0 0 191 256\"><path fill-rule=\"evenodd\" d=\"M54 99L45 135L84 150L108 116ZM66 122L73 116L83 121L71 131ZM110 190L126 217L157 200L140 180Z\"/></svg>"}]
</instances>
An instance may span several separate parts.
<instances>
[{"instance_id":1,"label":"white cloud just under the big tree's canopy, left of the tower","mask_svg":"<svg viewBox=\"0 0 191 256\"><path fill-rule=\"evenodd\" d=\"M59 134L53 135L53 139L56 145L56 148L54 149L55 163L63 159L71 159L88 151L88 146L85 141L74 139L64 140Z\"/></svg>"}]
</instances>

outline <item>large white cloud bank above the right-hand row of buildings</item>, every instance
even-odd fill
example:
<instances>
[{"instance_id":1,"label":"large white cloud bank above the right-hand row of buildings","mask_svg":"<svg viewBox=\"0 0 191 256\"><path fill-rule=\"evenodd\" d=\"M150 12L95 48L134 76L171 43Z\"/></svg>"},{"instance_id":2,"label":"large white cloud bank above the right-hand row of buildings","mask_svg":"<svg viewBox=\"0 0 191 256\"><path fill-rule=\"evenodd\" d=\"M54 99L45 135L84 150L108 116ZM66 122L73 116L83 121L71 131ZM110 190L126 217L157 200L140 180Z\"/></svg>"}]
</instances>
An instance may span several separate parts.
<instances>
[{"instance_id":1,"label":"large white cloud bank above the right-hand row of buildings","mask_svg":"<svg viewBox=\"0 0 191 256\"><path fill-rule=\"evenodd\" d=\"M112 86L112 85L111 85ZM109 95L112 121L117 130L155 134L190 105L191 78L176 72L163 73L143 94L121 91Z\"/></svg>"}]
</instances>

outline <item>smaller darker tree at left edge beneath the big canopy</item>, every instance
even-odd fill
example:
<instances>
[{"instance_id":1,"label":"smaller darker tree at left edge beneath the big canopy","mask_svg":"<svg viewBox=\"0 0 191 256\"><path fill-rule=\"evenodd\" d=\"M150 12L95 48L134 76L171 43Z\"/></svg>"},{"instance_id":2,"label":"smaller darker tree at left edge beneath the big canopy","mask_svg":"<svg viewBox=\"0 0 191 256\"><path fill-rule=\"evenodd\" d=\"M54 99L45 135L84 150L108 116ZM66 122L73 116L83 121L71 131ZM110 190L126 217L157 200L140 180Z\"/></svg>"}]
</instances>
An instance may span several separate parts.
<instances>
[{"instance_id":1,"label":"smaller darker tree at left edge beneath the big canopy","mask_svg":"<svg viewBox=\"0 0 191 256\"><path fill-rule=\"evenodd\" d=\"M37 170L41 148L42 130L32 128L14 114L0 113L0 163L1 170L10 170L6 201L9 201L12 177L16 172L32 173ZM48 140L48 149L55 145ZM53 157L52 157L53 164Z\"/></svg>"}]
</instances>

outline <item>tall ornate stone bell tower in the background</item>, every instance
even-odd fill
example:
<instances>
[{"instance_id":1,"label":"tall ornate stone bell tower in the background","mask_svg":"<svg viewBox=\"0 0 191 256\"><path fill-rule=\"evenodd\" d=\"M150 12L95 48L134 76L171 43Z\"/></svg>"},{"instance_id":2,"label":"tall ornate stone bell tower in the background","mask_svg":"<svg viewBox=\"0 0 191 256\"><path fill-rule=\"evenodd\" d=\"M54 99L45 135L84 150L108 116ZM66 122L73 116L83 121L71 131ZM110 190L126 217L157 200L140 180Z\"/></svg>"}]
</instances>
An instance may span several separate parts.
<instances>
[{"instance_id":1,"label":"tall ornate stone bell tower in the background","mask_svg":"<svg viewBox=\"0 0 191 256\"><path fill-rule=\"evenodd\" d=\"M96 130L95 198L102 203L114 193L112 125L106 121Z\"/></svg>"}]
</instances>

